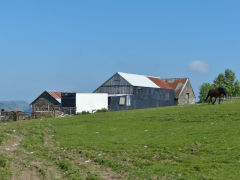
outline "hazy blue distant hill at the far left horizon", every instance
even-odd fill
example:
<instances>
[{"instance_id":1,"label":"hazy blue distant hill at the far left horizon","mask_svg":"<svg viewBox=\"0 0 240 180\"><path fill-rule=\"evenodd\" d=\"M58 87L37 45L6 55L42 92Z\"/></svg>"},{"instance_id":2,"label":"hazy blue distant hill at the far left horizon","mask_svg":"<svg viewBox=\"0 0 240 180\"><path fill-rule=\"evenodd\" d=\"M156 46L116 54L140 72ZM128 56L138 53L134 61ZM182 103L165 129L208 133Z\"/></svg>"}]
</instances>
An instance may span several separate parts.
<instances>
[{"instance_id":1,"label":"hazy blue distant hill at the far left horizon","mask_svg":"<svg viewBox=\"0 0 240 180\"><path fill-rule=\"evenodd\" d=\"M21 110L23 112L31 112L29 104L25 101L0 101L0 109L6 111Z\"/></svg>"}]
</instances>

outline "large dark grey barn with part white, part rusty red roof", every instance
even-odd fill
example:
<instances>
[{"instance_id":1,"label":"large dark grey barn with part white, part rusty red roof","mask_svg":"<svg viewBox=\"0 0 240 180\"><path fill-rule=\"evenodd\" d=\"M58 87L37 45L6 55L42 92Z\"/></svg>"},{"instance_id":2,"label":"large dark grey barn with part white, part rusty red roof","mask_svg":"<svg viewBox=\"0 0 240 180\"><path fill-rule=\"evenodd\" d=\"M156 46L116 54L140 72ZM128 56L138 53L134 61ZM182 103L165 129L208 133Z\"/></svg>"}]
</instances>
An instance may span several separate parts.
<instances>
[{"instance_id":1,"label":"large dark grey barn with part white, part rusty red roof","mask_svg":"<svg viewBox=\"0 0 240 180\"><path fill-rule=\"evenodd\" d=\"M175 91L164 80L158 82L148 76L118 72L94 93L109 94L111 111L176 105Z\"/></svg>"}]
</instances>

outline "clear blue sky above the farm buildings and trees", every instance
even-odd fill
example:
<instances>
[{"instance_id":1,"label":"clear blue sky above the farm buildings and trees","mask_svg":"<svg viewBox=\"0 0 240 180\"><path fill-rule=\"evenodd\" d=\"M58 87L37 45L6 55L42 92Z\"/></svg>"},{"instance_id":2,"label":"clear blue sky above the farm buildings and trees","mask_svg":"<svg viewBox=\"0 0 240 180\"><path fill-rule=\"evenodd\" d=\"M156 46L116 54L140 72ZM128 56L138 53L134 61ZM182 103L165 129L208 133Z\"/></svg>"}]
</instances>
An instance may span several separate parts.
<instances>
[{"instance_id":1,"label":"clear blue sky above the farm buildings and trees","mask_svg":"<svg viewBox=\"0 0 240 180\"><path fill-rule=\"evenodd\" d=\"M239 9L231 0L1 1L0 100L92 92L118 71L189 77L198 95L226 68L240 79Z\"/></svg>"}]
</instances>

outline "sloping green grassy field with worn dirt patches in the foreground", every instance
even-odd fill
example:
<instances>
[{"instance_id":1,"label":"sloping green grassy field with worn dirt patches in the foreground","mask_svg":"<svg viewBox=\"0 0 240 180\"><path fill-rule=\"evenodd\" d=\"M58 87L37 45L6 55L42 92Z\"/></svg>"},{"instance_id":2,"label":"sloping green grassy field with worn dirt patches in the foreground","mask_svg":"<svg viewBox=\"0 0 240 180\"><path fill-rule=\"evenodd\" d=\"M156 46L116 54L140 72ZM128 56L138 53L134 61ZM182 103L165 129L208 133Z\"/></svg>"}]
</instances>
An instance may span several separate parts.
<instances>
[{"instance_id":1,"label":"sloping green grassy field with worn dirt patches in the foreground","mask_svg":"<svg viewBox=\"0 0 240 180\"><path fill-rule=\"evenodd\" d=\"M0 124L2 179L239 179L240 102Z\"/></svg>"}]
</instances>

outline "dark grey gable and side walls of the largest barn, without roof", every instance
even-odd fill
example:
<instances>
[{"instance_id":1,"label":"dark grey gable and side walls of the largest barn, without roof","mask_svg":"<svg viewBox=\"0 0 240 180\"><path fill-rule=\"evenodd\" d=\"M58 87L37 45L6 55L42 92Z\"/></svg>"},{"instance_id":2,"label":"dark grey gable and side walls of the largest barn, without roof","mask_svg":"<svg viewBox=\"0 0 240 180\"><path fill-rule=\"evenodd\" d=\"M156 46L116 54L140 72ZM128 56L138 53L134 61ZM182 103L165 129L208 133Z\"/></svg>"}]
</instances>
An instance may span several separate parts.
<instances>
[{"instance_id":1,"label":"dark grey gable and side walls of the largest barn, without roof","mask_svg":"<svg viewBox=\"0 0 240 180\"><path fill-rule=\"evenodd\" d=\"M118 73L103 83L94 93L108 93L110 95L108 102L111 111L176 105L174 90L132 86ZM120 105L121 96L119 94L124 94L125 97L128 95L131 105L127 106L126 102L124 105Z\"/></svg>"}]
</instances>

